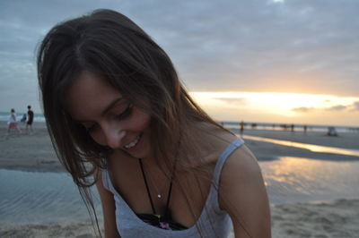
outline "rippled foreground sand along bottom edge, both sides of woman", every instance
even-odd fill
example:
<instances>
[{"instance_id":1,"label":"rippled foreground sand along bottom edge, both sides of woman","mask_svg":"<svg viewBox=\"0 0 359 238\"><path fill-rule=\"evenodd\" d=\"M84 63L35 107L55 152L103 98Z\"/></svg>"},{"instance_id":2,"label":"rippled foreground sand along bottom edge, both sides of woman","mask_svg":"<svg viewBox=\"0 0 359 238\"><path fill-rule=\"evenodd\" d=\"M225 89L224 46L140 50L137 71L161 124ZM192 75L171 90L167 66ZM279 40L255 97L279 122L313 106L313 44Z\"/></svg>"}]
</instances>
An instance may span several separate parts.
<instances>
[{"instance_id":1,"label":"rippled foreground sand along bottom edge, both sides of woman","mask_svg":"<svg viewBox=\"0 0 359 238\"><path fill-rule=\"evenodd\" d=\"M272 206L273 238L355 238L359 234L359 200ZM102 231L103 234L103 231ZM91 224L1 225L0 237L96 237ZM230 235L234 238L234 235Z\"/></svg>"}]
</instances>

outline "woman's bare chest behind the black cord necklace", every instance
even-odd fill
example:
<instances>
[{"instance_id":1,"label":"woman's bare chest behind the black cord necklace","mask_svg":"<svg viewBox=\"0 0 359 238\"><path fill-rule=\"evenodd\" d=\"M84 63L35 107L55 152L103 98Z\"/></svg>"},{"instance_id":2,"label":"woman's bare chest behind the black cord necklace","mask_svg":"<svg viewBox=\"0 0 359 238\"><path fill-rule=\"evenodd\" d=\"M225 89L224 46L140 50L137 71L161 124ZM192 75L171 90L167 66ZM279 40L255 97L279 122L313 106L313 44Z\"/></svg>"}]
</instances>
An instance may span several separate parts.
<instances>
[{"instance_id":1,"label":"woman's bare chest behind the black cord necklace","mask_svg":"<svg viewBox=\"0 0 359 238\"><path fill-rule=\"evenodd\" d=\"M211 169L199 169L194 172L176 173L171 176L161 170L150 170L139 164L112 165L111 183L136 214L163 215L171 213L173 221L186 227L195 225L206 205L211 188ZM171 196L168 201L168 196ZM151 199L150 199L151 197Z\"/></svg>"}]
</instances>

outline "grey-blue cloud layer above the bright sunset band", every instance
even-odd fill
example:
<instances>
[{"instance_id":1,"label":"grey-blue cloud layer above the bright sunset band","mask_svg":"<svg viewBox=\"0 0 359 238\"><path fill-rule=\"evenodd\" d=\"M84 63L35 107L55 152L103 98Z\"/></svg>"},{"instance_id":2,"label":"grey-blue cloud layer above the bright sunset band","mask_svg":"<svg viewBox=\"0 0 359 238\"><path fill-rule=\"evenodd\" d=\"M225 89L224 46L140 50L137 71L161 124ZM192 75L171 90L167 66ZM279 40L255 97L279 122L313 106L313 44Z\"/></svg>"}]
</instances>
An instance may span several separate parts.
<instances>
[{"instance_id":1,"label":"grey-blue cloud layer above the bright sunset band","mask_svg":"<svg viewBox=\"0 0 359 238\"><path fill-rule=\"evenodd\" d=\"M188 89L359 96L355 0L3 0L0 65L33 64L36 45L53 25L95 8L117 10L143 27L171 56ZM4 74L3 84L19 85L23 95L21 81ZM16 72L36 88L33 75ZM18 97L1 95L0 101Z\"/></svg>"}]
</instances>

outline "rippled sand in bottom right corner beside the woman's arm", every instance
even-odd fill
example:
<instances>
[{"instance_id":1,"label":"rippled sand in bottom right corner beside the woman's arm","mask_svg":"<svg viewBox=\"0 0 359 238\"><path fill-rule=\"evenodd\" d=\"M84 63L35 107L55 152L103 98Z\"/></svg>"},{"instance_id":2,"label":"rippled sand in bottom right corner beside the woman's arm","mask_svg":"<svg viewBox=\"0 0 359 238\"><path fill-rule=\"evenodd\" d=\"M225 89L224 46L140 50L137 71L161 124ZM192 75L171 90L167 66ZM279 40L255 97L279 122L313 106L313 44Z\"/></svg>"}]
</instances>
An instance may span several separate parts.
<instances>
[{"instance_id":1,"label":"rippled sand in bottom right corner beside the woman's arm","mask_svg":"<svg viewBox=\"0 0 359 238\"><path fill-rule=\"evenodd\" d=\"M272 236L349 238L359 234L359 200L276 205Z\"/></svg>"}]
</instances>

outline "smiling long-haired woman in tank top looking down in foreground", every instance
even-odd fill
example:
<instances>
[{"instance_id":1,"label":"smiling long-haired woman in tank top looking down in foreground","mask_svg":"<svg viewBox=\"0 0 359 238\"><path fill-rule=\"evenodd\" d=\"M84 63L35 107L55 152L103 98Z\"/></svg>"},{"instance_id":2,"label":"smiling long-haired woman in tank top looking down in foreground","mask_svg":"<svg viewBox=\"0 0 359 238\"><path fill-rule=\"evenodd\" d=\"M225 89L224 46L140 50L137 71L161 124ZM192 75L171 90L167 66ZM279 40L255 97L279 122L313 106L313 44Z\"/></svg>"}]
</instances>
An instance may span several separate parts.
<instances>
[{"instance_id":1,"label":"smiling long-haired woman in tank top looking down in foreground","mask_svg":"<svg viewBox=\"0 0 359 238\"><path fill-rule=\"evenodd\" d=\"M57 155L106 237L270 237L256 159L188 96L171 60L126 16L65 21L39 47ZM232 222L231 222L232 220Z\"/></svg>"}]
</instances>

